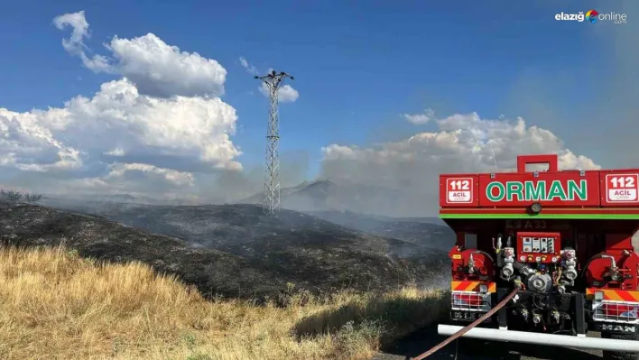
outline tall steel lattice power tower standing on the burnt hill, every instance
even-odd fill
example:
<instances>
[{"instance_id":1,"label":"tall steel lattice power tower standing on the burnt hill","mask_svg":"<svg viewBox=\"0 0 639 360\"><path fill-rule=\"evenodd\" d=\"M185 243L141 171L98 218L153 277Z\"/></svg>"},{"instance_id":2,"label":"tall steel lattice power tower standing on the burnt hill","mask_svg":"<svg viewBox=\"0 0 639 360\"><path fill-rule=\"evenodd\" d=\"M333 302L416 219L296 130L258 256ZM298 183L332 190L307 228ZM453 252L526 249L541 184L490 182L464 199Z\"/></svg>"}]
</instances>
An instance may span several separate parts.
<instances>
[{"instance_id":1,"label":"tall steel lattice power tower standing on the burnt hill","mask_svg":"<svg viewBox=\"0 0 639 360\"><path fill-rule=\"evenodd\" d=\"M263 77L255 76L264 82L269 92L270 106L268 127L266 130L266 168L264 173L264 212L273 214L280 209L280 115L278 112L278 90L285 78L294 79L291 75L272 70Z\"/></svg>"}]
</instances>

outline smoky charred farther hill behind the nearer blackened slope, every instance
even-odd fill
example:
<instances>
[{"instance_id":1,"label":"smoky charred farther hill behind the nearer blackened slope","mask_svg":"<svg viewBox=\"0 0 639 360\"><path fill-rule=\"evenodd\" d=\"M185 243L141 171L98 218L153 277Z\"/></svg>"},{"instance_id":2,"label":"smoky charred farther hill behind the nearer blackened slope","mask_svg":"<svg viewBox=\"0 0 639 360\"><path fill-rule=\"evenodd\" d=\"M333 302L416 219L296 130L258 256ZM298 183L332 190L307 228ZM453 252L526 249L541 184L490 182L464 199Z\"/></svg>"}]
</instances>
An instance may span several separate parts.
<instances>
[{"instance_id":1,"label":"smoky charred farther hill behind the nearer blackened slope","mask_svg":"<svg viewBox=\"0 0 639 360\"><path fill-rule=\"evenodd\" d=\"M190 245L268 261L272 254L316 252L323 261L343 252L394 255L433 263L445 253L394 238L363 234L282 209L276 217L253 205L130 206L99 214L127 226L184 239ZM313 256L315 256L313 255ZM326 255L326 256L324 256ZM310 256L310 255L309 255ZM309 263L316 259L307 259Z\"/></svg>"}]
</instances>

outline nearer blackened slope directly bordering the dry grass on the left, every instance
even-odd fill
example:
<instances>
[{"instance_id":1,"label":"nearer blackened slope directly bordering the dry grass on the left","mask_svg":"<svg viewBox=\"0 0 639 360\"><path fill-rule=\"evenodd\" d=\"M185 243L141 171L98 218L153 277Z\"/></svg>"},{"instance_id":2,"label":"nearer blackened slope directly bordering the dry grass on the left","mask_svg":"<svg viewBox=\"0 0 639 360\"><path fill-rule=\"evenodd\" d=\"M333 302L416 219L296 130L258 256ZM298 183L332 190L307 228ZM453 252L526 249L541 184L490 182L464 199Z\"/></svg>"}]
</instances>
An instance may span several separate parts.
<instances>
[{"instance_id":1,"label":"nearer blackened slope directly bordering the dry grass on the left","mask_svg":"<svg viewBox=\"0 0 639 360\"><path fill-rule=\"evenodd\" d=\"M141 261L171 272L204 293L237 295L239 289L274 293L285 286L261 263L216 250L190 247L179 239L150 235L104 218L38 206L0 206L4 245L60 245L81 256L114 262Z\"/></svg>"}]
</instances>

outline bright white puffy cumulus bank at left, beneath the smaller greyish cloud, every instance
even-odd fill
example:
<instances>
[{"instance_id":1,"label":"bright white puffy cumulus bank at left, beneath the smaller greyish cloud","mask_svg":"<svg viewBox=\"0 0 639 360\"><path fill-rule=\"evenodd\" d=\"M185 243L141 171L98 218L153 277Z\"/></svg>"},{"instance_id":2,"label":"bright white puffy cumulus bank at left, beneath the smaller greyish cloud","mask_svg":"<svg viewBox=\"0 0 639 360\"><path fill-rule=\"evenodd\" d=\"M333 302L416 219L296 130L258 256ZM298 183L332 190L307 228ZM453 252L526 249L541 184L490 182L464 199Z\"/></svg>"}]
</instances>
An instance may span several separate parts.
<instances>
[{"instance_id":1,"label":"bright white puffy cumulus bank at left, beneath the smaller greyish cloud","mask_svg":"<svg viewBox=\"0 0 639 360\"><path fill-rule=\"evenodd\" d=\"M104 154L145 158L156 166L240 169L234 161L240 152L229 138L236 119L235 109L219 97L149 97L123 78L102 84L93 97L70 99L63 108L27 113L0 108L5 130L0 146L5 144L5 153L21 165L33 164L40 151L76 154L75 163Z\"/></svg>"}]
</instances>

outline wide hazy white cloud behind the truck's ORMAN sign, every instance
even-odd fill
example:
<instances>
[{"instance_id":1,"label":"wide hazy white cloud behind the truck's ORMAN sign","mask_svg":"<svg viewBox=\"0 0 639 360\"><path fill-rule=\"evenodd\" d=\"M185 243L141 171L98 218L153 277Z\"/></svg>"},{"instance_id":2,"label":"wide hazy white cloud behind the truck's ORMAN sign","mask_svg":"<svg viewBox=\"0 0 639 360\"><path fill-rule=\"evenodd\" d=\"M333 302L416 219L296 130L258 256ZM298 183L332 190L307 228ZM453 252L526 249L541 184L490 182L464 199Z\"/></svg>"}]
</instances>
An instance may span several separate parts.
<instances>
[{"instance_id":1,"label":"wide hazy white cloud behind the truck's ORMAN sign","mask_svg":"<svg viewBox=\"0 0 639 360\"><path fill-rule=\"evenodd\" d=\"M561 170L600 169L588 157L571 152L551 131L527 125L523 118L491 120L472 113L431 121L439 131L369 147L323 147L322 176L403 189L406 196L389 204L389 211L415 216L436 212L440 173L495 171L495 162L499 171L513 171L517 155L535 153L557 153Z\"/></svg>"}]
</instances>

